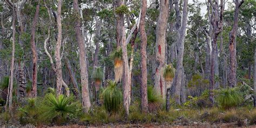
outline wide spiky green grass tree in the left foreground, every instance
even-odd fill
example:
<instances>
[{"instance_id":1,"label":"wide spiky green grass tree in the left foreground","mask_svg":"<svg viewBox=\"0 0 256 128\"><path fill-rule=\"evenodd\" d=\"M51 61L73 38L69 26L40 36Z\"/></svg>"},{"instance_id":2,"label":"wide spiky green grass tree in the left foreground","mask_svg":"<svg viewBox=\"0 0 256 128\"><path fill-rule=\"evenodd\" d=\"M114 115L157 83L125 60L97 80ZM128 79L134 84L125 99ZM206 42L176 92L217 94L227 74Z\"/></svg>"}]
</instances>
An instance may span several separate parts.
<instances>
[{"instance_id":1,"label":"wide spiky green grass tree in the left foreground","mask_svg":"<svg viewBox=\"0 0 256 128\"><path fill-rule=\"evenodd\" d=\"M40 110L41 119L61 124L70 114L77 114L80 109L79 103L75 102L75 97L55 96L49 93L44 97Z\"/></svg>"}]
</instances>

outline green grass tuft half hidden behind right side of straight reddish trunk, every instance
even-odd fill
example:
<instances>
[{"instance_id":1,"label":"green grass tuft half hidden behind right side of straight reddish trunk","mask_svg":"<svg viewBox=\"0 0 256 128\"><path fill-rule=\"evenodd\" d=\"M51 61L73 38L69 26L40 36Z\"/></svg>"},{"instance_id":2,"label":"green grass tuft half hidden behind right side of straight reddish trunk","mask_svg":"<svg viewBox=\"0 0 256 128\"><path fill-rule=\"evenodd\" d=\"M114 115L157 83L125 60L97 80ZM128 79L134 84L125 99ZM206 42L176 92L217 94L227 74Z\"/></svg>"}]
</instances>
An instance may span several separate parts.
<instances>
[{"instance_id":1,"label":"green grass tuft half hidden behind right side of straight reddish trunk","mask_svg":"<svg viewBox=\"0 0 256 128\"><path fill-rule=\"evenodd\" d=\"M152 86L147 87L147 101L150 112L156 112L161 109L163 100L161 99L161 96L154 91Z\"/></svg>"}]
</instances>

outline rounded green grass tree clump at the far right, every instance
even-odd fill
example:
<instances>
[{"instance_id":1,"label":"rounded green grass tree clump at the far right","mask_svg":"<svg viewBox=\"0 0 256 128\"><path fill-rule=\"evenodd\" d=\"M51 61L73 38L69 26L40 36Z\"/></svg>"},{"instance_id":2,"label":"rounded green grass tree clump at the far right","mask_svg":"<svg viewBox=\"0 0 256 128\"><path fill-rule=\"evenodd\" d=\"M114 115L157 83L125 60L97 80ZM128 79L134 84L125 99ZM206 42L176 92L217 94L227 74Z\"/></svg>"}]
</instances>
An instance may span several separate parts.
<instances>
[{"instance_id":1,"label":"rounded green grass tree clump at the far right","mask_svg":"<svg viewBox=\"0 0 256 128\"><path fill-rule=\"evenodd\" d=\"M221 89L217 97L218 104L223 109L230 109L237 106L242 102L241 95L236 88Z\"/></svg>"}]
</instances>

